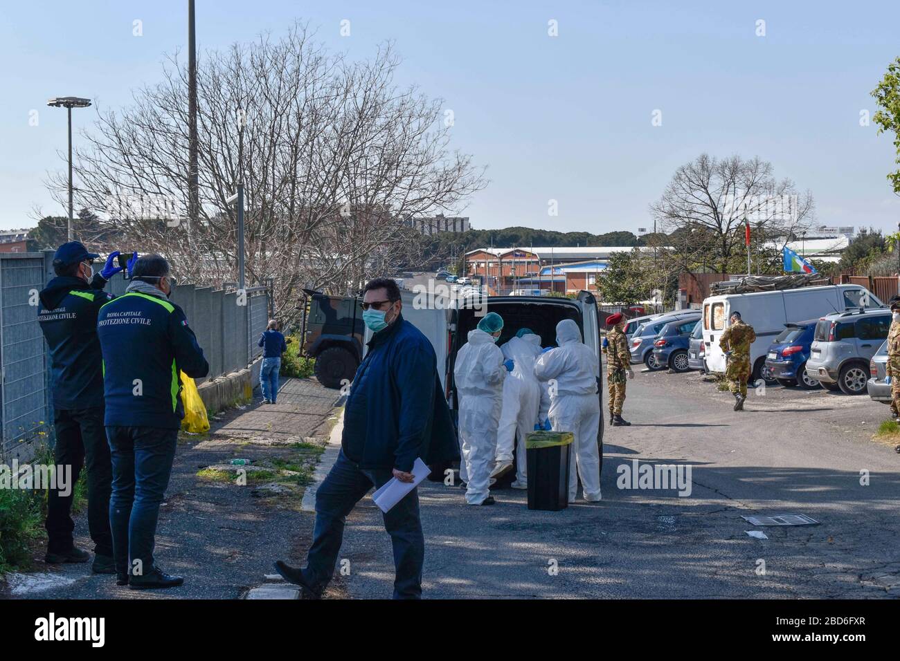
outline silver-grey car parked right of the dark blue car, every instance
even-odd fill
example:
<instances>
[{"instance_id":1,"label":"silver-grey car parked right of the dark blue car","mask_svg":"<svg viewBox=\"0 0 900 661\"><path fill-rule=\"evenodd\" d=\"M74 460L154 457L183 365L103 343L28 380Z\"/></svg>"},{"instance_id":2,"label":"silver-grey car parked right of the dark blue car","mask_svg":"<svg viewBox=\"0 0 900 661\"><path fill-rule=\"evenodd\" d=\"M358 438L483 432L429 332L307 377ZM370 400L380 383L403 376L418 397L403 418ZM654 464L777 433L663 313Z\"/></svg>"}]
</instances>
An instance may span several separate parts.
<instances>
[{"instance_id":1,"label":"silver-grey car parked right of the dark blue car","mask_svg":"<svg viewBox=\"0 0 900 661\"><path fill-rule=\"evenodd\" d=\"M862 395L869 381L869 361L887 338L891 312L861 309L827 315L815 325L806 373L824 388Z\"/></svg>"}]
</instances>

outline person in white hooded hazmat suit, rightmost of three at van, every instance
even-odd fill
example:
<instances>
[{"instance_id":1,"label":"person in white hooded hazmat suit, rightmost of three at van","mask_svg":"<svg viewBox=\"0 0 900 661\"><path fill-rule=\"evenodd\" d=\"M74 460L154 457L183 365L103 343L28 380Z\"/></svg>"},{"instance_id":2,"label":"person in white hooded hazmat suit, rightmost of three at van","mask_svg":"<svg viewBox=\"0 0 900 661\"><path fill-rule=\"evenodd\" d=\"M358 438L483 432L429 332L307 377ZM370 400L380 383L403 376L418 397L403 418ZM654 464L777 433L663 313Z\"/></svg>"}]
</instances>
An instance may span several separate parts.
<instances>
[{"instance_id":1,"label":"person in white hooded hazmat suit, rightmost of three at van","mask_svg":"<svg viewBox=\"0 0 900 661\"><path fill-rule=\"evenodd\" d=\"M572 319L556 325L555 349L545 350L535 363L535 376L550 385L550 424L554 432L572 432L569 452L569 502L575 500L578 478L589 502L600 499L600 399L597 355L581 342ZM576 476L575 469L578 468Z\"/></svg>"}]
</instances>

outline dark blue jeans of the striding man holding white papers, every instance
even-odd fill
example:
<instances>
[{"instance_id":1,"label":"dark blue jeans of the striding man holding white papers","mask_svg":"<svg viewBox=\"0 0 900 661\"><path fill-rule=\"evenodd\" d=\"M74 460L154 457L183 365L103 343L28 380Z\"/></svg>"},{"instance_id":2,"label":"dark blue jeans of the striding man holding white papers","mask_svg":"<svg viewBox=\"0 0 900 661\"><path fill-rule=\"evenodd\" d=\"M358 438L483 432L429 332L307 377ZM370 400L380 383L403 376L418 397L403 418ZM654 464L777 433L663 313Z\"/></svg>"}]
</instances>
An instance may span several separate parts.
<instances>
[{"instance_id":1,"label":"dark blue jeans of the striding man holding white papers","mask_svg":"<svg viewBox=\"0 0 900 661\"><path fill-rule=\"evenodd\" d=\"M381 487L391 479L390 469L361 469L344 456L331 467L316 492L316 525L303 581L321 594L334 576L338 551L344 538L344 523L354 505L369 489ZM394 599L419 599L422 596L422 564L425 562L425 538L419 520L419 494L413 489L400 503L383 514L384 529L391 535L394 557Z\"/></svg>"}]
</instances>

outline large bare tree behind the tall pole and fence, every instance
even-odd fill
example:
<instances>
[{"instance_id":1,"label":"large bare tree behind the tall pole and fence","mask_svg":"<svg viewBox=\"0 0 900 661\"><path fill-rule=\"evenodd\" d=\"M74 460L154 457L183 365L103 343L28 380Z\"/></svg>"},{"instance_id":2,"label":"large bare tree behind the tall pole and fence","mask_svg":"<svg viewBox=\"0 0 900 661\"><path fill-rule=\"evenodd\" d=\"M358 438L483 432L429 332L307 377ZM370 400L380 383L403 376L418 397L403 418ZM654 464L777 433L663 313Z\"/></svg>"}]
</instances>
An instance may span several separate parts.
<instances>
[{"instance_id":1,"label":"large bare tree behind the tall pole and fence","mask_svg":"<svg viewBox=\"0 0 900 661\"><path fill-rule=\"evenodd\" d=\"M166 255L188 281L237 277L237 213L245 185L247 282L275 282L290 315L304 286L346 293L421 255L409 219L458 212L486 180L450 148L441 102L394 83L387 44L347 61L304 25L198 62L200 219L188 208L187 71L177 55L163 79L120 112L98 109L76 153L76 204L135 246ZM65 194L60 174L49 179ZM410 261L412 260L412 261Z\"/></svg>"}]
</instances>

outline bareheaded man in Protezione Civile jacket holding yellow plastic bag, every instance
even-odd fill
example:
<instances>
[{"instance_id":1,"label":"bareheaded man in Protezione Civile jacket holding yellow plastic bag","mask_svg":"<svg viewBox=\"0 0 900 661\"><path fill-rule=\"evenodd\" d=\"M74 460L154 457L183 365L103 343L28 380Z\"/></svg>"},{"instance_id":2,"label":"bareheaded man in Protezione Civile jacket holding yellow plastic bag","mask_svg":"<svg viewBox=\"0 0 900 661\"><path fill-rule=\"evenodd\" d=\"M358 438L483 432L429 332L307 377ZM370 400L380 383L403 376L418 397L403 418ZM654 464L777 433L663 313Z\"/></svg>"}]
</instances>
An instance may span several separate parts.
<instances>
[{"instance_id":1,"label":"bareheaded man in Protezione Civile jacket holding yellow plastic bag","mask_svg":"<svg viewBox=\"0 0 900 661\"><path fill-rule=\"evenodd\" d=\"M166 259L144 255L128 290L97 317L112 451L112 550L117 583L135 589L184 583L157 567L153 547L184 417L178 375L204 377L210 366L184 312L168 300L174 289Z\"/></svg>"}]
</instances>

